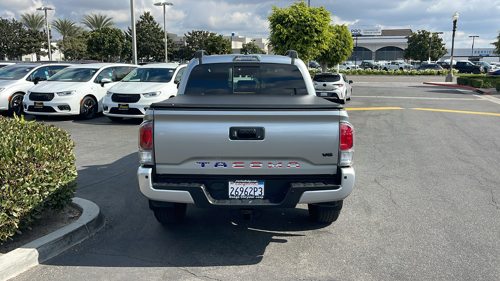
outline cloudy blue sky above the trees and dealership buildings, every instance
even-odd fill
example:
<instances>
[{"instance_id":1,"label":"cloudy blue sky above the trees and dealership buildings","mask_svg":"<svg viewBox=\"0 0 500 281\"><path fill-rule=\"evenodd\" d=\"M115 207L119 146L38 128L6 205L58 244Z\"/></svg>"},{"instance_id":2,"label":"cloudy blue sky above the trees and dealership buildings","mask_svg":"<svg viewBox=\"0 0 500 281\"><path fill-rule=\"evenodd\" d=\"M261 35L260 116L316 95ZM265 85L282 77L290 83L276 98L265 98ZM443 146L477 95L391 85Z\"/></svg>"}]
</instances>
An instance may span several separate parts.
<instances>
[{"instance_id":1,"label":"cloudy blue sky above the trees and dealership buildings","mask_svg":"<svg viewBox=\"0 0 500 281\"><path fill-rule=\"evenodd\" d=\"M150 11L162 26L163 9L154 6L158 0L135 0L135 16ZM230 35L236 32L252 38L269 34L267 15L271 4L283 7L293 0L170 0L167 6L167 31L179 35L190 30L210 30ZM297 1L297 0L295 0ZM490 42L500 29L500 0L310 0L324 5L331 12L333 23L347 25L379 25L382 29L411 28L442 31L447 47L451 47L451 16L459 18L455 47L471 46L469 35L475 38L474 48L491 47ZM80 22L83 14L100 12L112 16L116 27L130 26L130 0L0 0L0 16L19 19L19 15L35 11L36 7L54 7L49 19L69 18ZM39 11L41 13L41 11ZM57 34L55 38L58 38Z\"/></svg>"}]
</instances>

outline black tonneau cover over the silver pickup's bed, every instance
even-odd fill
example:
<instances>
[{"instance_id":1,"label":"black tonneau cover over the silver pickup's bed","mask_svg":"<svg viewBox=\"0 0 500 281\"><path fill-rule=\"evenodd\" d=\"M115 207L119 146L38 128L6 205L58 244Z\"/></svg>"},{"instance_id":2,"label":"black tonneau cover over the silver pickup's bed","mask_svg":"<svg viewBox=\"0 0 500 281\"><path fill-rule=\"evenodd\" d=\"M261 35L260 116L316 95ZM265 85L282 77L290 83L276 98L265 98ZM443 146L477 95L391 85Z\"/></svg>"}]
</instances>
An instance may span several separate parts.
<instances>
[{"instance_id":1,"label":"black tonneau cover over the silver pickup's bed","mask_svg":"<svg viewBox=\"0 0 500 281\"><path fill-rule=\"evenodd\" d=\"M152 103L154 109L179 108L234 108L234 109L340 109L341 104L312 94L260 95L260 94L179 94L161 102Z\"/></svg>"}]
</instances>

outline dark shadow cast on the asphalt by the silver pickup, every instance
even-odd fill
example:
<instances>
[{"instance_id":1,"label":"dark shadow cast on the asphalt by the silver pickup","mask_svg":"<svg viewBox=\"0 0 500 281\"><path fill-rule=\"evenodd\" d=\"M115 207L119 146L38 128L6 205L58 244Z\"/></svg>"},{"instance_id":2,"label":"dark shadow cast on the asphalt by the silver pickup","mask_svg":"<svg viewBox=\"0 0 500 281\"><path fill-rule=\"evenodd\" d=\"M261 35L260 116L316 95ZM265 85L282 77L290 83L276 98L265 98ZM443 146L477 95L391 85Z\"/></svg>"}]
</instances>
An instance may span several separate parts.
<instances>
[{"instance_id":1,"label":"dark shadow cast on the asphalt by the silver pickup","mask_svg":"<svg viewBox=\"0 0 500 281\"><path fill-rule=\"evenodd\" d=\"M242 221L228 209L202 209L189 204L184 221L162 225L149 210L135 177L137 155L107 164L107 179L98 180L102 165L78 171L75 194L94 201L106 225L90 238L43 262L63 266L157 267L248 265L269 255L296 258L312 235L334 230L330 223L308 219L304 208L267 209ZM127 172L124 172L128 170ZM305 207L306 205L300 205ZM327 227L327 228L325 228ZM322 229L323 228L323 229ZM288 243L292 243L288 245ZM272 258L272 257L271 257Z\"/></svg>"}]
</instances>

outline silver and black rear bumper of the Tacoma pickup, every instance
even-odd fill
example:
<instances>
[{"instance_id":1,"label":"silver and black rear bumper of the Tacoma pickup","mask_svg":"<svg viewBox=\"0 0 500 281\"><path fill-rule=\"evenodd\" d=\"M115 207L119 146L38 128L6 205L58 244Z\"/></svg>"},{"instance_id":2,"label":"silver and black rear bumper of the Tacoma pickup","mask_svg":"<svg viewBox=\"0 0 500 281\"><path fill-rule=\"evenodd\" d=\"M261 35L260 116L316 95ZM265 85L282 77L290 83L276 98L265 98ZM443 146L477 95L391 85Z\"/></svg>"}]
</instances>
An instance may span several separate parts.
<instances>
[{"instance_id":1,"label":"silver and black rear bumper of the Tacoma pickup","mask_svg":"<svg viewBox=\"0 0 500 281\"><path fill-rule=\"evenodd\" d=\"M149 200L194 203L204 208L293 208L296 204L321 203L342 200L354 187L355 173L352 167L339 169L340 184L290 183L277 199L217 199L199 178L192 182L153 182L152 168L139 167L137 180L142 194ZM310 184L309 184L310 183Z\"/></svg>"}]
</instances>

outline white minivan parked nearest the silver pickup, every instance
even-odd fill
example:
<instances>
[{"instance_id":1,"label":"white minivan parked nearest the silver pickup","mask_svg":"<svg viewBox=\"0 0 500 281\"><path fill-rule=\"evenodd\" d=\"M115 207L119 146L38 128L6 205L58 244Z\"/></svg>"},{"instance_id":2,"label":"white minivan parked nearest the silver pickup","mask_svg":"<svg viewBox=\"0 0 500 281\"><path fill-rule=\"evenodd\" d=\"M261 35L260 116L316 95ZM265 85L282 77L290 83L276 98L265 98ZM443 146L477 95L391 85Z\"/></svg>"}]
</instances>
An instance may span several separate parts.
<instances>
[{"instance_id":1,"label":"white minivan parked nearest the silver pickup","mask_svg":"<svg viewBox=\"0 0 500 281\"><path fill-rule=\"evenodd\" d=\"M187 63L151 63L136 68L109 88L102 101L103 113L118 121L142 118L153 103L177 95L177 84Z\"/></svg>"}]
</instances>

